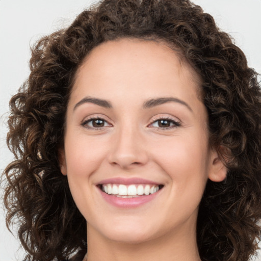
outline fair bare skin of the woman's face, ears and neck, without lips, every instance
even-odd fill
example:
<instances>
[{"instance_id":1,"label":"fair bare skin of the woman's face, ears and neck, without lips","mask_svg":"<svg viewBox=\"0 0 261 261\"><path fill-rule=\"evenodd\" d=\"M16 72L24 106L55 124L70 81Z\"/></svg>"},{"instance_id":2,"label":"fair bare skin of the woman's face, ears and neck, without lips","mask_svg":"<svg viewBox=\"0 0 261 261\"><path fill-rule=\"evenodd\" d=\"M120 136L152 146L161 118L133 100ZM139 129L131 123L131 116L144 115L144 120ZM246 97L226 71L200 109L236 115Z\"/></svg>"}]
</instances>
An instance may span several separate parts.
<instances>
[{"instance_id":1,"label":"fair bare skin of the woman's face, ears and neck, without lips","mask_svg":"<svg viewBox=\"0 0 261 261\"><path fill-rule=\"evenodd\" d=\"M207 178L221 181L226 170L208 144L199 83L173 50L152 41L102 43L79 68L60 162L87 220L88 261L200 260L198 205ZM111 108L86 97L107 100ZM144 108L162 97L175 100ZM97 117L102 127L91 120ZM112 177L164 187L145 204L121 208L105 201L96 186Z\"/></svg>"}]
</instances>

